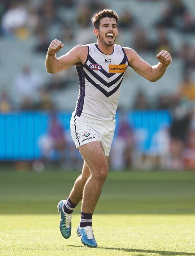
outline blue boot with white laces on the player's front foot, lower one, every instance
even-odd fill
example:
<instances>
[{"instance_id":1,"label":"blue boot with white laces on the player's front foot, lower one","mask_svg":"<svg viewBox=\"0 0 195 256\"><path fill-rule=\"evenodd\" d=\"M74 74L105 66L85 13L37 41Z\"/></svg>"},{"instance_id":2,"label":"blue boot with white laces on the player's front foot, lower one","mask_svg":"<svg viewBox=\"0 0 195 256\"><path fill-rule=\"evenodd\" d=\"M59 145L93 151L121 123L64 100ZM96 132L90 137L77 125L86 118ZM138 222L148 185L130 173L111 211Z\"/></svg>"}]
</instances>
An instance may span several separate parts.
<instances>
[{"instance_id":1,"label":"blue boot with white laces on the player's front foot, lower one","mask_svg":"<svg viewBox=\"0 0 195 256\"><path fill-rule=\"evenodd\" d=\"M81 242L84 245L89 247L97 247L96 240L94 238L94 233L92 227L80 227L78 226L76 229L78 236L81 238Z\"/></svg>"}]
</instances>

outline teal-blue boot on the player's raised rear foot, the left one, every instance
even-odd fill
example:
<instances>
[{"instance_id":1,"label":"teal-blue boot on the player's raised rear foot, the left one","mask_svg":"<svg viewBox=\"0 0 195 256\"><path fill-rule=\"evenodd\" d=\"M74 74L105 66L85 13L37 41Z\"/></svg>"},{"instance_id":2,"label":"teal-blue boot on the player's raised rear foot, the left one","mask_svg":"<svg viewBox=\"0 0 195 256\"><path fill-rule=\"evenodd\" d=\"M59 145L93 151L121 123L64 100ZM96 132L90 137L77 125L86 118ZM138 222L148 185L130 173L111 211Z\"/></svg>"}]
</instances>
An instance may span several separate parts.
<instances>
[{"instance_id":1,"label":"teal-blue boot on the player's raised rear foot, the left one","mask_svg":"<svg viewBox=\"0 0 195 256\"><path fill-rule=\"evenodd\" d=\"M68 214L64 212L64 204L66 200L58 202L57 208L60 213L60 232L64 238L69 238L71 236L71 220L72 213Z\"/></svg>"}]
</instances>

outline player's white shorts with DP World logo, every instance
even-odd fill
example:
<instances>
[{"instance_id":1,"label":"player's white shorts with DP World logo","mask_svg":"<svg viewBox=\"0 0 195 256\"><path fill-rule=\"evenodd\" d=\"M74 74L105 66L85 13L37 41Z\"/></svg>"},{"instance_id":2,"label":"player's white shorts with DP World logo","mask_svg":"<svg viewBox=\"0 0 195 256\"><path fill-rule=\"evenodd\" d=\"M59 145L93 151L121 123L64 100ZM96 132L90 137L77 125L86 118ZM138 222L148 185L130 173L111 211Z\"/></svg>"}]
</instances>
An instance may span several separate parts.
<instances>
[{"instance_id":1,"label":"player's white shorts with DP World logo","mask_svg":"<svg viewBox=\"0 0 195 256\"><path fill-rule=\"evenodd\" d=\"M100 141L105 156L109 156L114 136L115 120L107 124L95 124L79 116L71 118L71 135L76 148L91 141Z\"/></svg>"}]
</instances>

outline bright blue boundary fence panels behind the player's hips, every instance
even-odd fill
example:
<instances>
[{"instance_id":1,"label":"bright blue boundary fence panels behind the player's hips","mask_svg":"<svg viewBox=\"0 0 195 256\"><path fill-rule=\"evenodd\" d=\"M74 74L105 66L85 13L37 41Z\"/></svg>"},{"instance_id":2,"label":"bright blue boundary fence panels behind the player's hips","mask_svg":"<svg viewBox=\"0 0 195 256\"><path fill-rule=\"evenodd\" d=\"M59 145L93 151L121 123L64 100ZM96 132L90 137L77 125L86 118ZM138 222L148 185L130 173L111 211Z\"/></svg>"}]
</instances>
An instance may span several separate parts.
<instances>
[{"instance_id":1,"label":"bright blue boundary fence panels behind the player's hips","mask_svg":"<svg viewBox=\"0 0 195 256\"><path fill-rule=\"evenodd\" d=\"M125 118L134 131L141 130L145 138L138 145L141 151L147 151L153 134L163 124L171 122L168 111L127 111L117 113L115 136L121 118ZM0 160L33 160L42 157L37 141L48 131L50 114L47 112L12 112L0 114ZM58 112L58 120L66 131L69 129L71 113Z\"/></svg>"}]
</instances>

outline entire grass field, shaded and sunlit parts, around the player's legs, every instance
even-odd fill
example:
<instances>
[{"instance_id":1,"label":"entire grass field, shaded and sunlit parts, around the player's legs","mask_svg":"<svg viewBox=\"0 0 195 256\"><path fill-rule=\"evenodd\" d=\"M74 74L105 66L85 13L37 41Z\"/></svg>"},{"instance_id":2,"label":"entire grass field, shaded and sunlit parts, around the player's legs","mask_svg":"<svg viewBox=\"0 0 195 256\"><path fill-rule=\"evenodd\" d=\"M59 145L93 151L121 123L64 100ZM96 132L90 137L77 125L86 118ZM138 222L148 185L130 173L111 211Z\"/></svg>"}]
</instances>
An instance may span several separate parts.
<instances>
[{"instance_id":1,"label":"entire grass field, shaded and sunlit parts, around the player's legs","mask_svg":"<svg viewBox=\"0 0 195 256\"><path fill-rule=\"evenodd\" d=\"M58 229L78 172L0 172L0 256L195 255L195 172L110 172L93 216L98 248Z\"/></svg>"}]
</instances>

